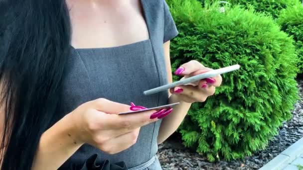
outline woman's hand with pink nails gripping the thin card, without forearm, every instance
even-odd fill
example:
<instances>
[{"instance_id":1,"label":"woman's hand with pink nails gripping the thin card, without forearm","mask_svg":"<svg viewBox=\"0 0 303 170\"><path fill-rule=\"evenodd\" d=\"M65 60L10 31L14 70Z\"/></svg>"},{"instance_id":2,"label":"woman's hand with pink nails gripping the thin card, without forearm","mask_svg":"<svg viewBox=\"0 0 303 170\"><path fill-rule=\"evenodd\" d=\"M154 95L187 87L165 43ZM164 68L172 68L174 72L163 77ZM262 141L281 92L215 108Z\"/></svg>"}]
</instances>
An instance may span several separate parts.
<instances>
[{"instance_id":1,"label":"woman's hand with pink nails gripping the thin card, without forearm","mask_svg":"<svg viewBox=\"0 0 303 170\"><path fill-rule=\"evenodd\" d=\"M130 111L129 105L99 98L86 102L70 113L77 143L88 143L108 154L116 154L137 142L140 127L158 120L165 110L118 115Z\"/></svg>"}]
</instances>

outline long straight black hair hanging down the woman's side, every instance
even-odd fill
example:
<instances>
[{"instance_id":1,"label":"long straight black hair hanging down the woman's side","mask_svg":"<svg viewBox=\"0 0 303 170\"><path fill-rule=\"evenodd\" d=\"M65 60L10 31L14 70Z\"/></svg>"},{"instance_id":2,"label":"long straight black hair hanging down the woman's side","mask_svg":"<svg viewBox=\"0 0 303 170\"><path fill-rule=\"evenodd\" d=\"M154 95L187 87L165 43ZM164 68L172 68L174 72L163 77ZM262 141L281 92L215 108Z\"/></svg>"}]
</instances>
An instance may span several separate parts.
<instances>
[{"instance_id":1,"label":"long straight black hair hanging down the woman's side","mask_svg":"<svg viewBox=\"0 0 303 170\"><path fill-rule=\"evenodd\" d=\"M1 169L30 170L42 133L59 119L70 18L65 0L0 5Z\"/></svg>"}]
</instances>

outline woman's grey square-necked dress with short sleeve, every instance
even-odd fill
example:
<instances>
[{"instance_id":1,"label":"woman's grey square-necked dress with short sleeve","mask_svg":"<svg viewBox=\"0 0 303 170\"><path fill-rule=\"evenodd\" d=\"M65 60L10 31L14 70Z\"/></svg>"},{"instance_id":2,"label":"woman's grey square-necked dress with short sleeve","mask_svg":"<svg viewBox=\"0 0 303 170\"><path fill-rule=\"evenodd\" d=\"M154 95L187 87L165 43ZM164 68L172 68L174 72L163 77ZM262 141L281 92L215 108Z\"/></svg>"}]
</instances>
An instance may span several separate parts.
<instances>
[{"instance_id":1,"label":"woman's grey square-necked dress with short sleeve","mask_svg":"<svg viewBox=\"0 0 303 170\"><path fill-rule=\"evenodd\" d=\"M96 98L153 107L167 104L168 93L145 96L143 91L167 83L163 43L178 34L165 0L141 0L150 39L113 48L71 48L64 80L63 112ZM118 154L106 154L83 145L64 165L63 170L81 166L92 155L96 164L124 161L130 170L161 170L157 135L161 121L144 126L137 143Z\"/></svg>"}]
</instances>

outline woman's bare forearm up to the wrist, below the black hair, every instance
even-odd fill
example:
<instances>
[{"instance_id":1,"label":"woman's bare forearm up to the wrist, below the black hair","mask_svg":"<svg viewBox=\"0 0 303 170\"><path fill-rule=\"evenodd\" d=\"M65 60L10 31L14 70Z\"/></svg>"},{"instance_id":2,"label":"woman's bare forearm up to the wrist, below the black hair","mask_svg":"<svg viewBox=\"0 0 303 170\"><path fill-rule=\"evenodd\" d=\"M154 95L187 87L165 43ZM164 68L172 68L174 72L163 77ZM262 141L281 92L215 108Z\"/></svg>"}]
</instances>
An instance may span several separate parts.
<instances>
[{"instance_id":1,"label":"woman's bare forearm up to the wrist, below the black hair","mask_svg":"<svg viewBox=\"0 0 303 170\"><path fill-rule=\"evenodd\" d=\"M81 147L73 126L68 114L42 134L32 170L57 170Z\"/></svg>"}]
</instances>

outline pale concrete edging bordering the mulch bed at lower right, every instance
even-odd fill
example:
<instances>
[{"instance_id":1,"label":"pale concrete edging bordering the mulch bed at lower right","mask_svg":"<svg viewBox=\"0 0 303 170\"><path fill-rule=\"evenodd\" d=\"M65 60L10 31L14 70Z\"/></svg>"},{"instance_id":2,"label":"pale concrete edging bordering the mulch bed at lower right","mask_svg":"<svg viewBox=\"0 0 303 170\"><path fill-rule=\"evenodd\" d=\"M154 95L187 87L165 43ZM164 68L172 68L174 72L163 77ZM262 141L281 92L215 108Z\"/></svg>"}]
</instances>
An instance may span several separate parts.
<instances>
[{"instance_id":1,"label":"pale concrete edging bordering the mulch bed at lower right","mask_svg":"<svg viewBox=\"0 0 303 170\"><path fill-rule=\"evenodd\" d=\"M303 138L288 147L280 155L259 170L283 170L303 154Z\"/></svg>"}]
</instances>

